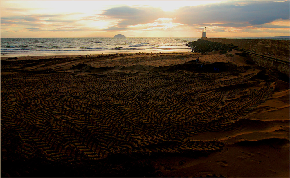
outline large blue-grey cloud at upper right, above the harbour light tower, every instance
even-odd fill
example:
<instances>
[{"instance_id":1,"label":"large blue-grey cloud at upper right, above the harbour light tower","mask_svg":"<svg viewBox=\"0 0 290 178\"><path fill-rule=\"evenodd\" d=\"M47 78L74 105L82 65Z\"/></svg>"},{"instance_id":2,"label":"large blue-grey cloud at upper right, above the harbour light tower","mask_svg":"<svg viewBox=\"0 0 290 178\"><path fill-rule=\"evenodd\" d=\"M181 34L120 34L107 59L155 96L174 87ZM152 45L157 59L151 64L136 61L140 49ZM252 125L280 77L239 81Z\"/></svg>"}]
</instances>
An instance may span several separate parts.
<instances>
[{"instance_id":1,"label":"large blue-grey cloud at upper right, above the harbour light tower","mask_svg":"<svg viewBox=\"0 0 290 178\"><path fill-rule=\"evenodd\" d=\"M183 24L266 24L276 19L289 19L289 1L227 1L204 6L182 7L175 22Z\"/></svg>"}]
</instances>

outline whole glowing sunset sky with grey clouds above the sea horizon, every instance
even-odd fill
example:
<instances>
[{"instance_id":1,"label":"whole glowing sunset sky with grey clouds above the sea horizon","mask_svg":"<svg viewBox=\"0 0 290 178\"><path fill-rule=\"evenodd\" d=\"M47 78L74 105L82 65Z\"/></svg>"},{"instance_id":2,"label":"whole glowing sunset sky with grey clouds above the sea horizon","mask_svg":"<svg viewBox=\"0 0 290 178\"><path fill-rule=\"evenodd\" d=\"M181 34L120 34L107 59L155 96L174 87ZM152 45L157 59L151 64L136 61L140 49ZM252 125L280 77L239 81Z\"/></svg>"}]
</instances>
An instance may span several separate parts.
<instances>
[{"instance_id":1,"label":"whole glowing sunset sky with grey clouds above the sea horizon","mask_svg":"<svg viewBox=\"0 0 290 178\"><path fill-rule=\"evenodd\" d=\"M1 0L1 38L289 36L289 1Z\"/></svg>"}]
</instances>

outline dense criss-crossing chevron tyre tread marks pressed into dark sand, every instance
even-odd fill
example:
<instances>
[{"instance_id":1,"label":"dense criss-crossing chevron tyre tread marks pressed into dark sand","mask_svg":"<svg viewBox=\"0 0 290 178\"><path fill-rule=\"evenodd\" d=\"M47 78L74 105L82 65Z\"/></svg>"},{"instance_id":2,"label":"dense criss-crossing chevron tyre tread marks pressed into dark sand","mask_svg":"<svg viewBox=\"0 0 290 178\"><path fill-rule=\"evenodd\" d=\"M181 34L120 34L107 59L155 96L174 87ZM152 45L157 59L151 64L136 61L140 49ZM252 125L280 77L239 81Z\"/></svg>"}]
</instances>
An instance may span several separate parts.
<instances>
[{"instance_id":1,"label":"dense criss-crossing chevron tyre tread marks pressed into dark sand","mask_svg":"<svg viewBox=\"0 0 290 178\"><path fill-rule=\"evenodd\" d=\"M240 119L273 109L259 105L274 91L274 83L252 80L255 75L1 75L1 142L5 147L9 140L18 141L27 158L41 154L63 161L219 150L221 141L188 137L235 130ZM256 84L260 88L252 89Z\"/></svg>"}]
</instances>

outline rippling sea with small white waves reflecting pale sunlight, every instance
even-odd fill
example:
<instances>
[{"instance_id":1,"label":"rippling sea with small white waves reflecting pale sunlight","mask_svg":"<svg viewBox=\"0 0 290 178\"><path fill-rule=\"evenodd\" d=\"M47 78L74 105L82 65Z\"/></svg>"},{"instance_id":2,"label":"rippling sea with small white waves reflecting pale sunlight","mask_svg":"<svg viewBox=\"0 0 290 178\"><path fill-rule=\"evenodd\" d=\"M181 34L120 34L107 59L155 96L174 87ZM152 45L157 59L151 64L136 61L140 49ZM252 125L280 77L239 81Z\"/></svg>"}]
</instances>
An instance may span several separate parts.
<instances>
[{"instance_id":1,"label":"rippling sea with small white waves reflecting pale sunlight","mask_svg":"<svg viewBox=\"0 0 290 178\"><path fill-rule=\"evenodd\" d=\"M199 38L1 38L1 57L189 52Z\"/></svg>"}]
</instances>

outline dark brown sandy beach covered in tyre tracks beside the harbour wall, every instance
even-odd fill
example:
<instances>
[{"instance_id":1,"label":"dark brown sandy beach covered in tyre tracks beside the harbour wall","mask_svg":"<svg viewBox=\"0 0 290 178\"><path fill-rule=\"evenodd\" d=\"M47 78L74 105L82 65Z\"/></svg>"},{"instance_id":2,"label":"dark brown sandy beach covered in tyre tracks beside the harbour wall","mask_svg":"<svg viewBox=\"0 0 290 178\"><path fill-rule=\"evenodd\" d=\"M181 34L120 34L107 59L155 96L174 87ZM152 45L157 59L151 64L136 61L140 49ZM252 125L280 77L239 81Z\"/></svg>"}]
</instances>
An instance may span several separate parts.
<instances>
[{"instance_id":1,"label":"dark brown sandy beach covered in tyre tracks beside the harbour wall","mask_svg":"<svg viewBox=\"0 0 290 178\"><path fill-rule=\"evenodd\" d=\"M289 78L237 52L1 57L1 177L289 177Z\"/></svg>"}]
</instances>

